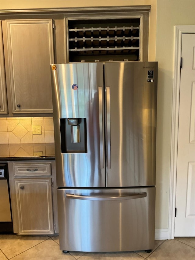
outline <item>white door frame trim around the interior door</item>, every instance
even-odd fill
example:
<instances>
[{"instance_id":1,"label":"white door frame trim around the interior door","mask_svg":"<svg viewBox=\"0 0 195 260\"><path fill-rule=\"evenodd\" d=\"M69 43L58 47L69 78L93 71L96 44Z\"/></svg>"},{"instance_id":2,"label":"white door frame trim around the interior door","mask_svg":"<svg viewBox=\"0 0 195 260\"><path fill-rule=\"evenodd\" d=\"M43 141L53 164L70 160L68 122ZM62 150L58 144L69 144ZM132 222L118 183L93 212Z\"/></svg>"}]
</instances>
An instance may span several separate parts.
<instances>
[{"instance_id":1,"label":"white door frame trim around the interior door","mask_svg":"<svg viewBox=\"0 0 195 260\"><path fill-rule=\"evenodd\" d=\"M174 77L172 92L172 126L171 126L171 159L170 159L170 187L168 239L174 239L175 207L176 207L176 178L177 178L177 143L179 126L179 91L180 91L180 61L182 34L195 33L194 25L176 25L174 28Z\"/></svg>"}]
</instances>

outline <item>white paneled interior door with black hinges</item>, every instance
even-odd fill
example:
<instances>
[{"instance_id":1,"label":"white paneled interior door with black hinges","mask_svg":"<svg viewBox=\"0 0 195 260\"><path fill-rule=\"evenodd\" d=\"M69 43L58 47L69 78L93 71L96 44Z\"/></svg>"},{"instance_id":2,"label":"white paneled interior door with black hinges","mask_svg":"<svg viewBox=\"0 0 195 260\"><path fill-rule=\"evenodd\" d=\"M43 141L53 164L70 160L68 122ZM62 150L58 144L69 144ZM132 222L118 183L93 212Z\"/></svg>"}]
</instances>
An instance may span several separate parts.
<instances>
[{"instance_id":1,"label":"white paneled interior door with black hinges","mask_svg":"<svg viewBox=\"0 0 195 260\"><path fill-rule=\"evenodd\" d=\"M182 35L175 237L195 236L195 34Z\"/></svg>"}]
</instances>

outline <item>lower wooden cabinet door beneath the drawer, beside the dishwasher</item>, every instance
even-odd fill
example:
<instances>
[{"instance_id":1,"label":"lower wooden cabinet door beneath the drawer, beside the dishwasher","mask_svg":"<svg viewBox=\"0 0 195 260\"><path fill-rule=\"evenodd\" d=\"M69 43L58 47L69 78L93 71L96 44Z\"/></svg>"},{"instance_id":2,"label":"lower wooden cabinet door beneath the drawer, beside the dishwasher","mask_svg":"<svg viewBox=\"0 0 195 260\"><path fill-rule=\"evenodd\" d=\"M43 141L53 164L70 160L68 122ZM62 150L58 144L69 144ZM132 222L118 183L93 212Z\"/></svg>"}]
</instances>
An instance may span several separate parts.
<instances>
[{"instance_id":1,"label":"lower wooden cabinet door beneath the drawer, beside the dishwasher","mask_svg":"<svg viewBox=\"0 0 195 260\"><path fill-rule=\"evenodd\" d=\"M18 234L54 234L51 178L14 182Z\"/></svg>"}]
</instances>

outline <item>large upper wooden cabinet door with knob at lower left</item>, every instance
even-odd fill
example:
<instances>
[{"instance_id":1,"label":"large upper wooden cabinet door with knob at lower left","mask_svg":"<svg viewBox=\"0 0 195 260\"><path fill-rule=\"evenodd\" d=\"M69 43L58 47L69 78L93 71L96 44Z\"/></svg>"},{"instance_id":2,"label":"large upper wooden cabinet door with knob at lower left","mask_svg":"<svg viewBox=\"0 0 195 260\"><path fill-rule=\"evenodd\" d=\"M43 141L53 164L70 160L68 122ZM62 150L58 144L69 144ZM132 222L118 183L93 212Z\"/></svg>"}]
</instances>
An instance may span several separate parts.
<instances>
[{"instance_id":1,"label":"large upper wooden cabinet door with knob at lower left","mask_svg":"<svg viewBox=\"0 0 195 260\"><path fill-rule=\"evenodd\" d=\"M6 20L13 113L52 113L52 19Z\"/></svg>"}]
</instances>

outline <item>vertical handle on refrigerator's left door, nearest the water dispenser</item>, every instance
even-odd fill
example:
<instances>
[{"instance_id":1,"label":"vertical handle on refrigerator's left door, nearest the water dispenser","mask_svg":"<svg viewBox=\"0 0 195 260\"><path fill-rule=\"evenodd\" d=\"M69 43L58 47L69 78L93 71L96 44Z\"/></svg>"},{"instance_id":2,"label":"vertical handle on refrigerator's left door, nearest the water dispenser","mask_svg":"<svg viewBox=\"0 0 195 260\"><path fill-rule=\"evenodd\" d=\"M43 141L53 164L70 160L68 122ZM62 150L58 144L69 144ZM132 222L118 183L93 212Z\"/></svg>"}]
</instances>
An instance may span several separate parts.
<instances>
[{"instance_id":1,"label":"vertical handle on refrigerator's left door, nearest the water dispenser","mask_svg":"<svg viewBox=\"0 0 195 260\"><path fill-rule=\"evenodd\" d=\"M99 97L99 124L100 124L100 168L104 169L102 87L98 87L98 97Z\"/></svg>"}]
</instances>

